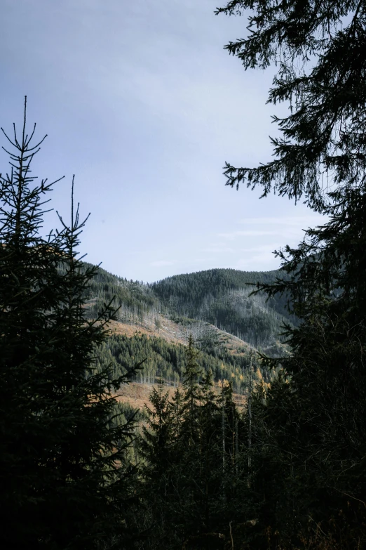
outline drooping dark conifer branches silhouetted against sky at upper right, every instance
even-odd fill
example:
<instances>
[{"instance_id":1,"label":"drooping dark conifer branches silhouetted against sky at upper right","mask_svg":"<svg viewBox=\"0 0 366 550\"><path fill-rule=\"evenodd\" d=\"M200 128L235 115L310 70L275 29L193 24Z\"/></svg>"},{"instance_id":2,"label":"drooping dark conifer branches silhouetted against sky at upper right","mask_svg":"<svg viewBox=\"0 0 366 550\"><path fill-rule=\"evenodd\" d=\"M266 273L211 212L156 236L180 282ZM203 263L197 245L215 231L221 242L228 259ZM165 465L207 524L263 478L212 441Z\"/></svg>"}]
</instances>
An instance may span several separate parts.
<instances>
[{"instance_id":1,"label":"drooping dark conifer branches silhouetted against sky at upper right","mask_svg":"<svg viewBox=\"0 0 366 550\"><path fill-rule=\"evenodd\" d=\"M216 13L248 16L248 36L225 48L245 70L276 64L268 103L290 103L287 117L273 117L283 134L271 138L276 158L255 168L226 163L227 185L238 187L246 181L250 188L261 185L262 196L272 189L295 200L304 196L320 212L328 202L328 185L334 183L344 192L362 187L364 3L231 0Z\"/></svg>"}]
</instances>

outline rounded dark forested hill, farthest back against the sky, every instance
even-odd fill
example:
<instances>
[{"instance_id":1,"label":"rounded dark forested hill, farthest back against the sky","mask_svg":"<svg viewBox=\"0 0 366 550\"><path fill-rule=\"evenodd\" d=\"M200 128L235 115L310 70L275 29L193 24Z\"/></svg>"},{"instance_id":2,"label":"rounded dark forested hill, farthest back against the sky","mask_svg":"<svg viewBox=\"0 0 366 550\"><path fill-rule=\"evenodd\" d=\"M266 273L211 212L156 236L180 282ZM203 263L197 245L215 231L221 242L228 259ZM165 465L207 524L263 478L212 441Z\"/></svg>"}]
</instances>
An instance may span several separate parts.
<instances>
[{"instance_id":1,"label":"rounded dark forested hill, farthest back against the sky","mask_svg":"<svg viewBox=\"0 0 366 550\"><path fill-rule=\"evenodd\" d=\"M255 288L248 283L270 283L276 277L288 275L280 270L212 269L168 277L149 288L171 315L205 320L258 347L278 339L284 322L295 322L285 296L269 301L264 294L249 296Z\"/></svg>"}]
</instances>

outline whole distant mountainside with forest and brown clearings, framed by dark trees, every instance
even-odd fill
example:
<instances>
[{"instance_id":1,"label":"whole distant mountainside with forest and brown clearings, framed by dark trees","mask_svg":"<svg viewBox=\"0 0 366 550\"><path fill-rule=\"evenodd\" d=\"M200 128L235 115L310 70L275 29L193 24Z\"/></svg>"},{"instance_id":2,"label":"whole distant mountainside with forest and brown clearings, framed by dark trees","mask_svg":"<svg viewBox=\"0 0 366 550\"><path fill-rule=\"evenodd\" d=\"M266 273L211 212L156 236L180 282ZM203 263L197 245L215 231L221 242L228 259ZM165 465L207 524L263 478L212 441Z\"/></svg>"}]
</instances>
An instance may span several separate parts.
<instances>
[{"instance_id":1,"label":"whole distant mountainside with forest and brown clearings, framed by dark trees","mask_svg":"<svg viewBox=\"0 0 366 550\"><path fill-rule=\"evenodd\" d=\"M192 334L203 371L212 369L217 383L230 380L242 395L251 364L255 380L270 383L273 372L252 351L260 346L272 356L289 353L278 334L290 317L285 299L266 302L266 296L249 296L254 287L247 283L271 282L281 275L215 269L144 284L99 268L88 288L87 315L95 318L110 301L119 308L100 358L113 365L116 376L146 358L135 382L149 386L161 375L175 386L182 381L184 348Z\"/></svg>"}]
</instances>

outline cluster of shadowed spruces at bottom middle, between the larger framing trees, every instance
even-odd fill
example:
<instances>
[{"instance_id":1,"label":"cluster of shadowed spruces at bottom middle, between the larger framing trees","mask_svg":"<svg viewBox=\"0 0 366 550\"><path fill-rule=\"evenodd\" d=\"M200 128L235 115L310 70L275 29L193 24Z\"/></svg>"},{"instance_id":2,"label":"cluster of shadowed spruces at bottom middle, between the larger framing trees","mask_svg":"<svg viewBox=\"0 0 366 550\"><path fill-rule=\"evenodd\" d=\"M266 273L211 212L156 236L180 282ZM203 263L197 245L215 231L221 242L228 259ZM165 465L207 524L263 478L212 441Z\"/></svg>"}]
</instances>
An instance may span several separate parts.
<instances>
[{"instance_id":1,"label":"cluster of shadowed spruces at bottom middle, between the larger framing trees","mask_svg":"<svg viewBox=\"0 0 366 550\"><path fill-rule=\"evenodd\" d=\"M226 548L245 523L249 480L248 423L231 384L216 395L190 339L182 387L169 399L158 383L146 414L137 445L142 536L136 548Z\"/></svg>"}]
</instances>

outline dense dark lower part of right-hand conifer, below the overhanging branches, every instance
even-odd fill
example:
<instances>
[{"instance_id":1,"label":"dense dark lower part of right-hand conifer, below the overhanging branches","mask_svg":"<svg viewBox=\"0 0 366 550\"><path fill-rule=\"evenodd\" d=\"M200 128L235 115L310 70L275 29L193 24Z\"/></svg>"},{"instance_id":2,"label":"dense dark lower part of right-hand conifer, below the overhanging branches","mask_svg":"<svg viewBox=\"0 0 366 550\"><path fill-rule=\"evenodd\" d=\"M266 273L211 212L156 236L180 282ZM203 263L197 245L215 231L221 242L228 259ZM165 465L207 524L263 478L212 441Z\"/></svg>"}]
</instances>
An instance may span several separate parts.
<instances>
[{"instance_id":1,"label":"dense dark lower part of right-hand conifer, below the overhanging branches","mask_svg":"<svg viewBox=\"0 0 366 550\"><path fill-rule=\"evenodd\" d=\"M283 498L273 508L273 524L288 526L292 517L293 525L306 531L310 516L329 532L332 545L341 548L344 541L366 544L361 504L366 454L361 420L366 413L366 202L358 190L330 195L330 221L308 230L297 249L286 247L278 253L290 279L259 285L269 296L287 293L301 320L297 329L287 327L292 355L264 358L269 367L280 364L287 380L279 379L269 391L261 429L271 434L280 457L273 460L282 464L282 488L274 487L273 497ZM287 536L294 530L287 530Z\"/></svg>"}]
</instances>

